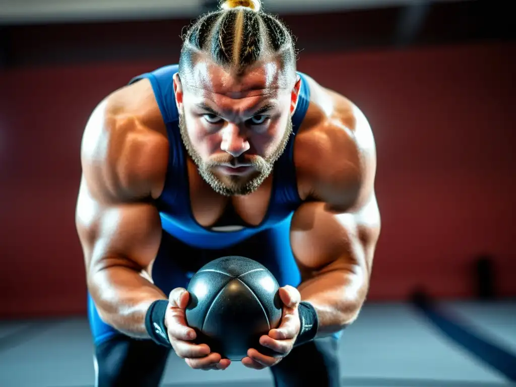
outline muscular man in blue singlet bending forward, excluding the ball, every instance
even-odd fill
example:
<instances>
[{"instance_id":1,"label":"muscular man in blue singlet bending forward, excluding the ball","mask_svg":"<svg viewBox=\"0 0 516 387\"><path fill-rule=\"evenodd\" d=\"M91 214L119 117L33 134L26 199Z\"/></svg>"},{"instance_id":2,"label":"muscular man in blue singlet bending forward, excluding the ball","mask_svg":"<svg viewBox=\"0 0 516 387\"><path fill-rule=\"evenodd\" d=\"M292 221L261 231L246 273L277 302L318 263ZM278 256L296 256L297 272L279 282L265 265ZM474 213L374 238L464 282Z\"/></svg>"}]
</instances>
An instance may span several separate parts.
<instances>
[{"instance_id":1,"label":"muscular man in blue singlet bending forward, excluding the ball","mask_svg":"<svg viewBox=\"0 0 516 387\"><path fill-rule=\"evenodd\" d=\"M184 313L188 279L227 255L267 266L284 303L260 338L277 356L249 348L241 362L277 386L339 385L337 336L365 300L380 232L375 142L356 106L297 72L292 36L259 2L202 15L178 66L100 102L81 159L99 386L158 385L170 350L230 366Z\"/></svg>"}]
</instances>

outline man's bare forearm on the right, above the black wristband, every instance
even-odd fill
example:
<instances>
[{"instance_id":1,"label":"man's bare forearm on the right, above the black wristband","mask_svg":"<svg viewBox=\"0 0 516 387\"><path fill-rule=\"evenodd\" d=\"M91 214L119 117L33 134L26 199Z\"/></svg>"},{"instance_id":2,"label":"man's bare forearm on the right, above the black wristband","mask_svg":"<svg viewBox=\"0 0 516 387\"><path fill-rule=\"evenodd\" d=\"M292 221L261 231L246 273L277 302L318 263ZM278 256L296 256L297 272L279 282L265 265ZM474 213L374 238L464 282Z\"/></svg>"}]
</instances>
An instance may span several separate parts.
<instances>
[{"instance_id":1,"label":"man's bare forearm on the right, above the black wristband","mask_svg":"<svg viewBox=\"0 0 516 387\"><path fill-rule=\"evenodd\" d=\"M302 301L310 302L317 312L317 336L342 330L357 317L367 293L362 273L333 270L320 273L298 286Z\"/></svg>"}]
</instances>

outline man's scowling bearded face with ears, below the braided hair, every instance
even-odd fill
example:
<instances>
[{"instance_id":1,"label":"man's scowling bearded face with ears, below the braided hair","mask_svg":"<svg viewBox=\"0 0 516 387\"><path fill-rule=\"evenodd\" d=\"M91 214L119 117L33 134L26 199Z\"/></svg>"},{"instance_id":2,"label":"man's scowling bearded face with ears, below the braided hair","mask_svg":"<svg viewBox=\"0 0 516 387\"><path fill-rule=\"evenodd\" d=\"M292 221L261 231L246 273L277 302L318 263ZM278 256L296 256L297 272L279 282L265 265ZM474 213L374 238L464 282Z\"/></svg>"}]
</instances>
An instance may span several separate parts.
<instances>
[{"instance_id":1,"label":"man's scowling bearded face with ears, below the braided hair","mask_svg":"<svg viewBox=\"0 0 516 387\"><path fill-rule=\"evenodd\" d=\"M238 75L200 60L182 77L174 77L181 135L200 175L221 195L255 191L291 135L300 81L273 61Z\"/></svg>"}]
</instances>

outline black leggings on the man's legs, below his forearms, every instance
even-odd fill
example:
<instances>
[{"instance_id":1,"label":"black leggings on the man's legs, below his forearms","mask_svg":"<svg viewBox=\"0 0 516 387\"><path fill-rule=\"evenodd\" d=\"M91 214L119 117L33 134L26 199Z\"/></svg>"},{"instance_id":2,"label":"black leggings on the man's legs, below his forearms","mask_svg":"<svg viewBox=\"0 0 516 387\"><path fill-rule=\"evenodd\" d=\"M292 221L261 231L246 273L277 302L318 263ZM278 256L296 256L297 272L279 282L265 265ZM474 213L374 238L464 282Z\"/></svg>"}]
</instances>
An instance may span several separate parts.
<instances>
[{"instance_id":1,"label":"black leggings on the man's legs, below his forearms","mask_svg":"<svg viewBox=\"0 0 516 387\"><path fill-rule=\"evenodd\" d=\"M275 386L339 386L337 344L335 337L324 337L292 350L270 368ZM169 353L169 349L150 340L135 340L124 335L112 337L95 348L96 386L157 387ZM186 363L183 366L187 367Z\"/></svg>"}]
</instances>

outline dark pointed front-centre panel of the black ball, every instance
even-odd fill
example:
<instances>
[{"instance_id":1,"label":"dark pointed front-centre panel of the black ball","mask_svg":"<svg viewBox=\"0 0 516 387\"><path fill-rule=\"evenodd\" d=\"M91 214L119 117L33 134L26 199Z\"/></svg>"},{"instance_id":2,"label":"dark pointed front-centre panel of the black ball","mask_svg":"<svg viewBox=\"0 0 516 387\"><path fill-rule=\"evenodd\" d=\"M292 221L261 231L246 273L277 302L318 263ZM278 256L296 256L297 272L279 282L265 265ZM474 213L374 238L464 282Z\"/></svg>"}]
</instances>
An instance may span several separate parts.
<instances>
[{"instance_id":1,"label":"dark pointed front-centre panel of the black ball","mask_svg":"<svg viewBox=\"0 0 516 387\"><path fill-rule=\"evenodd\" d=\"M217 295L202 327L214 347L212 351L234 361L245 358L249 348L260 345L260 336L268 331L269 321L262 303L238 279L233 279Z\"/></svg>"}]
</instances>

